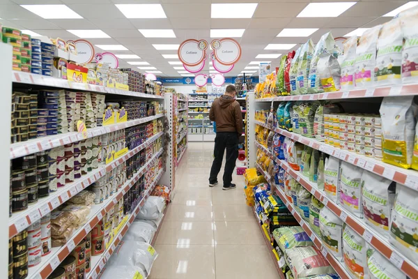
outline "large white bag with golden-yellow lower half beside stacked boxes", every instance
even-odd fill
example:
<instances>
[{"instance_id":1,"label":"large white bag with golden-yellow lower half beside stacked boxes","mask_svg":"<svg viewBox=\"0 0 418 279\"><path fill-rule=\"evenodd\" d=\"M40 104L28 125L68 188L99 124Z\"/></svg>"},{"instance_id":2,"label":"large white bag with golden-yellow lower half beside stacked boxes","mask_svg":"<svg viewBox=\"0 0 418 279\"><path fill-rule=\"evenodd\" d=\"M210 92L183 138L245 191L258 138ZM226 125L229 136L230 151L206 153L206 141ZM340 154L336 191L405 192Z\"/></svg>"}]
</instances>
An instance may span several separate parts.
<instances>
[{"instance_id":1,"label":"large white bag with golden-yellow lower half beside stacked boxes","mask_svg":"<svg viewBox=\"0 0 418 279\"><path fill-rule=\"evenodd\" d=\"M418 106L414 96L385 97L380 105L383 162L408 169L412 163Z\"/></svg>"}]
</instances>

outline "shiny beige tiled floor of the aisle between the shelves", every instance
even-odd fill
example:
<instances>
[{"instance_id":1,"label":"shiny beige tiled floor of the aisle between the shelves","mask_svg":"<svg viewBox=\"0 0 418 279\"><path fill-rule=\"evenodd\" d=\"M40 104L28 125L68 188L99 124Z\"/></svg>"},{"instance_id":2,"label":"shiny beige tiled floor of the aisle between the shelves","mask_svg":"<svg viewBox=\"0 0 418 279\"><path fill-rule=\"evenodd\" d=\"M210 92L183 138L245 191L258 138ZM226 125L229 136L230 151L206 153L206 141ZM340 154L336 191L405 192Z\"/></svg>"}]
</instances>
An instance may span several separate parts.
<instances>
[{"instance_id":1,"label":"shiny beige tiled floor of the aisle between the shelves","mask_svg":"<svg viewBox=\"0 0 418 279\"><path fill-rule=\"evenodd\" d=\"M244 179L222 190L222 175L209 188L213 144L189 143L176 172L176 195L167 211L155 250L151 279L278 278L254 215L245 204Z\"/></svg>"}]
</instances>

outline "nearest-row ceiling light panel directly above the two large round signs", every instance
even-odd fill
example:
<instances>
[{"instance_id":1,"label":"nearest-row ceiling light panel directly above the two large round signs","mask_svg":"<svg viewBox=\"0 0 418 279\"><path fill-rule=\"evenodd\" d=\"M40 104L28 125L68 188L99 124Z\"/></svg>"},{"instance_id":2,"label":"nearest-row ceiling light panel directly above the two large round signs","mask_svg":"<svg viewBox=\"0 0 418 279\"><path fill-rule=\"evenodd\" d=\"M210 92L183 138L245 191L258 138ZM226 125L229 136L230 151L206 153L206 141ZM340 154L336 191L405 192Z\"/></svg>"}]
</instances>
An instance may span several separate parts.
<instances>
[{"instance_id":1,"label":"nearest-row ceiling light panel directly above the two large round signs","mask_svg":"<svg viewBox=\"0 0 418 279\"><path fill-rule=\"evenodd\" d=\"M212 3L212 18L251 18L258 3ZM233 11L231 13L231 11Z\"/></svg>"}]
</instances>

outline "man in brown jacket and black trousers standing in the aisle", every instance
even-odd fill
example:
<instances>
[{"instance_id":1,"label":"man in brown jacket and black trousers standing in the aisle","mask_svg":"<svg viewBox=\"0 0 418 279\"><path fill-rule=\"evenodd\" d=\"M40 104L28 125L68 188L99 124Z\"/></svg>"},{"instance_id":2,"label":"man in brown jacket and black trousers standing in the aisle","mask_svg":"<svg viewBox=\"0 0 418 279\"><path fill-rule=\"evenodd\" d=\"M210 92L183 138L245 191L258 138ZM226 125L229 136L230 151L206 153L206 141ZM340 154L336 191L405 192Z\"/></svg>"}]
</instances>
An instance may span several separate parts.
<instances>
[{"instance_id":1,"label":"man in brown jacket and black trousers standing in the aisle","mask_svg":"<svg viewBox=\"0 0 418 279\"><path fill-rule=\"evenodd\" d=\"M235 188L232 172L238 158L238 140L242 135L242 112L240 104L235 100L236 93L235 86L226 86L225 94L213 102L209 113L209 119L216 122L215 159L210 169L209 186L217 186L217 175L226 149L223 190Z\"/></svg>"}]
</instances>

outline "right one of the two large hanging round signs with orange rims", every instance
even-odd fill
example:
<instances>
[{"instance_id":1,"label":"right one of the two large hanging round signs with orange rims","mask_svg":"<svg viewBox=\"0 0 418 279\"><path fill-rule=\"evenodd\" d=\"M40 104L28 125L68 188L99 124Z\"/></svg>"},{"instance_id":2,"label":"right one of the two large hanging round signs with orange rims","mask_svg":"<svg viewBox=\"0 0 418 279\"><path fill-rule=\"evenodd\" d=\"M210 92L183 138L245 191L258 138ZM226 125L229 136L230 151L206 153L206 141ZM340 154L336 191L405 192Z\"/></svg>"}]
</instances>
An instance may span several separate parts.
<instances>
[{"instance_id":1,"label":"right one of the two large hanging round signs with orange rims","mask_svg":"<svg viewBox=\"0 0 418 279\"><path fill-rule=\"evenodd\" d=\"M214 47L214 41L212 41L212 48L215 52L215 59L226 66L235 64L241 58L241 46L233 38L223 38L219 40L221 45L218 49Z\"/></svg>"}]
</instances>

